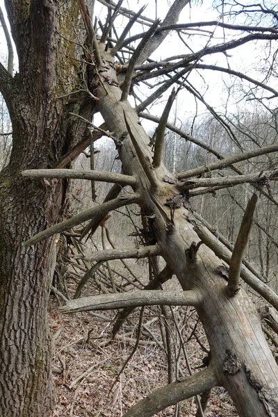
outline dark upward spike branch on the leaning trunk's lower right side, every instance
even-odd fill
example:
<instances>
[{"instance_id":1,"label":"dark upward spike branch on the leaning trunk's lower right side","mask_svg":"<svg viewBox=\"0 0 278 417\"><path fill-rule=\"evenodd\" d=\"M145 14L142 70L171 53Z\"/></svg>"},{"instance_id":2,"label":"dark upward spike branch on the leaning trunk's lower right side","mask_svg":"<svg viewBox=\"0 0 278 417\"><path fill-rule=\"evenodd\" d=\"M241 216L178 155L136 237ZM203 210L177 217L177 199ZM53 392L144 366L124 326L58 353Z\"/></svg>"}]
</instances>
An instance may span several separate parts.
<instances>
[{"instance_id":1,"label":"dark upward spike branch on the leaning trunk's lower right side","mask_svg":"<svg viewBox=\"0 0 278 417\"><path fill-rule=\"evenodd\" d=\"M253 194L247 204L245 213L243 215L243 221L241 222L240 229L238 231L238 237L236 238L236 243L234 245L234 250L231 254L229 281L227 286L228 291L229 293L231 293L231 295L236 295L236 293L238 293L240 269L243 261L245 247L248 243L249 236L251 233L253 215L257 199L257 195Z\"/></svg>"}]
</instances>

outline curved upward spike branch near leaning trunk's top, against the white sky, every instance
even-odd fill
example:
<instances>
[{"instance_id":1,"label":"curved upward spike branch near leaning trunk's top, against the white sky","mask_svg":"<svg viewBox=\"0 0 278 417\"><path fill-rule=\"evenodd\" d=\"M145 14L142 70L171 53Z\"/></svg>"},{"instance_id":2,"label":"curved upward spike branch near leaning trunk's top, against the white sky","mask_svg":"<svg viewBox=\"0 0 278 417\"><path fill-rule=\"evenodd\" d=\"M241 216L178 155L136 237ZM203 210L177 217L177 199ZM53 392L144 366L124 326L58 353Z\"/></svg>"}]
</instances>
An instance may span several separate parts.
<instances>
[{"instance_id":1,"label":"curved upward spike branch near leaning trunk's top, against the white sky","mask_svg":"<svg viewBox=\"0 0 278 417\"><path fill-rule=\"evenodd\" d=\"M156 28L157 28L159 23L160 23L160 20L156 20L156 22L154 22L154 24L145 33L141 42L138 44L138 47L136 48L136 50L133 52L133 54L131 56L131 60L129 61L129 66L127 67L127 70L126 70L126 76L124 78L124 83L122 85L121 101L126 101L127 97L129 96L129 89L130 89L130 86L131 86L132 75L133 75L133 71L134 71L134 67L136 65L136 62L139 60L141 51L145 47L145 44L147 43L147 41L150 38L152 38L152 35L155 33Z\"/></svg>"}]
</instances>

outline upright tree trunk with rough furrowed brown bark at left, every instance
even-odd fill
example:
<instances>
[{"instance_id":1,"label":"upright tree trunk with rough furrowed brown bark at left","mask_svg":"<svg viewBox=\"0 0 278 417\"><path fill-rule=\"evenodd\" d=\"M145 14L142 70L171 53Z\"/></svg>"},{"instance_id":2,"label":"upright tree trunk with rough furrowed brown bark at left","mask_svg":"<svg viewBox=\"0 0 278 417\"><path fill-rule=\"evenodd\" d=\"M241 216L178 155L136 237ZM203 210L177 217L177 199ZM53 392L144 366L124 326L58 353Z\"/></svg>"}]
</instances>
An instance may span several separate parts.
<instances>
[{"instance_id":1,"label":"upright tree trunk with rough furrowed brown bark at left","mask_svg":"<svg viewBox=\"0 0 278 417\"><path fill-rule=\"evenodd\" d=\"M83 42L79 6L67 1L6 1L19 57L19 74L1 66L0 87L13 124L10 163L0 174L0 416L51 415L51 338L47 302L56 262L53 238L33 247L22 242L58 222L67 205L65 180L31 181L20 172L53 166L80 140L92 101L81 92ZM57 33L59 35L57 35ZM51 183L49 182L51 181Z\"/></svg>"}]
</instances>

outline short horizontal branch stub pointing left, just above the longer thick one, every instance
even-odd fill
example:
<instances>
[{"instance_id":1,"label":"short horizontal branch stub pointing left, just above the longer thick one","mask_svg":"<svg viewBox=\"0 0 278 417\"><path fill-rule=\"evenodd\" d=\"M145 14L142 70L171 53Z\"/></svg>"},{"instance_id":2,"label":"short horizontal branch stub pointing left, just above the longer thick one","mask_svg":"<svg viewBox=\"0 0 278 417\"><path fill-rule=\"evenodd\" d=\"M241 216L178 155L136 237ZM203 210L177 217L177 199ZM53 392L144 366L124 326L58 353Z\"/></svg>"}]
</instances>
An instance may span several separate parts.
<instances>
[{"instance_id":1,"label":"short horizontal branch stub pointing left, just above the longer thick one","mask_svg":"<svg viewBox=\"0 0 278 417\"><path fill-rule=\"evenodd\" d=\"M140 247L140 249L106 249L95 252L90 258L86 258L86 261L98 262L98 261L110 261L111 259L140 259L147 258L149 256L158 256L161 254L161 248L159 245L151 245Z\"/></svg>"}]
</instances>

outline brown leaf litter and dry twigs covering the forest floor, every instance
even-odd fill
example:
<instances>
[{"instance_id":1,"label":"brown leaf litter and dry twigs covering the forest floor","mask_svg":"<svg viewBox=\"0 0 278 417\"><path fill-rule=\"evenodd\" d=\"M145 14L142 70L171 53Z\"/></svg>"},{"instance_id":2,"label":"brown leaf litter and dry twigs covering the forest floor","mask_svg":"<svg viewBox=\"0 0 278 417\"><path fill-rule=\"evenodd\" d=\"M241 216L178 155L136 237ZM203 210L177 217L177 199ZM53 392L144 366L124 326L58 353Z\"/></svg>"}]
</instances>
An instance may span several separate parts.
<instances>
[{"instance_id":1,"label":"brown leaf litter and dry twigs covering the forest floor","mask_svg":"<svg viewBox=\"0 0 278 417\"><path fill-rule=\"evenodd\" d=\"M120 417L141 398L167 384L167 357L163 350L159 314L156 313L158 309L146 309L145 328L142 329L138 348L119 381L116 381L136 344L136 323L140 310L134 311L133 321L127 322L117 338L112 340L113 311L101 313L106 320L90 313L64 315L58 311L59 304L56 297L51 296L49 318L54 338L53 379L56 395L53 416ZM185 323L183 329L186 329L187 334L192 334L193 328L197 329L193 309L187 309L184 316L178 310L175 314L180 323ZM173 330L171 332L174 366L179 368L179 375L188 375L177 334ZM202 328L198 330L198 335L199 341L203 338L205 344ZM186 344L186 350L193 373L196 373L199 370L196 368L202 366L205 354L194 337ZM157 416L191 417L195 413L193 398L181 402L179 409L169 407ZM232 417L238 414L229 395L218 387L211 393L205 416Z\"/></svg>"}]
</instances>

